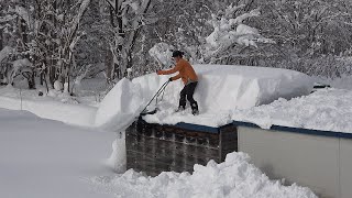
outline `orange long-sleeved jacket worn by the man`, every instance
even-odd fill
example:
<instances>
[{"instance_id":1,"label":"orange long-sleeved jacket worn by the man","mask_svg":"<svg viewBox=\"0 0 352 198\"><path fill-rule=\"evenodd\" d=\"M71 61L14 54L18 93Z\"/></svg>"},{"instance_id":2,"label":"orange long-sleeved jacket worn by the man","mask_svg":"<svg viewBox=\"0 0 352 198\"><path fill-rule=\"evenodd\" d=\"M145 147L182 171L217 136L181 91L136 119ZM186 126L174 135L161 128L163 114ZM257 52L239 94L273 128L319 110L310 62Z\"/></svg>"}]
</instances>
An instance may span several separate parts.
<instances>
[{"instance_id":1,"label":"orange long-sleeved jacket worn by the man","mask_svg":"<svg viewBox=\"0 0 352 198\"><path fill-rule=\"evenodd\" d=\"M179 59L176 66L169 70L161 70L158 75L169 75L178 72L178 75L172 77L173 80L177 80L182 78L184 84L186 85L188 80L198 81L198 76L196 75L195 69L184 58Z\"/></svg>"}]
</instances>

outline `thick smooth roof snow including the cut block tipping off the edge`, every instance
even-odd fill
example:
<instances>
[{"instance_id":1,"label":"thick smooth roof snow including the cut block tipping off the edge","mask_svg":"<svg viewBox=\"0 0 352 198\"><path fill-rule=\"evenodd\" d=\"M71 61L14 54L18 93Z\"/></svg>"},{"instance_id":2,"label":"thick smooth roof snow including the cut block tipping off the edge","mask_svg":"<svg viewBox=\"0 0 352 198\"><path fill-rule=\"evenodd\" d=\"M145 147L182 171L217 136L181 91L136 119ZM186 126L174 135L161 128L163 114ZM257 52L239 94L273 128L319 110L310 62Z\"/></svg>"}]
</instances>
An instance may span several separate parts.
<instances>
[{"instance_id":1,"label":"thick smooth roof snow including the cut block tipping off the edge","mask_svg":"<svg viewBox=\"0 0 352 198\"><path fill-rule=\"evenodd\" d=\"M155 114L144 117L147 122L176 124L178 122L219 127L232 121L234 110L244 110L271 103L278 98L290 99L308 95L312 80L305 74L267 67L195 65L199 84L195 92L200 114L190 110L175 113L178 107L180 80L172 81L157 103ZM97 125L128 127L170 76L145 75L122 79L101 102L96 117ZM161 99L161 98L160 98ZM155 101L148 110L155 109Z\"/></svg>"}]
</instances>

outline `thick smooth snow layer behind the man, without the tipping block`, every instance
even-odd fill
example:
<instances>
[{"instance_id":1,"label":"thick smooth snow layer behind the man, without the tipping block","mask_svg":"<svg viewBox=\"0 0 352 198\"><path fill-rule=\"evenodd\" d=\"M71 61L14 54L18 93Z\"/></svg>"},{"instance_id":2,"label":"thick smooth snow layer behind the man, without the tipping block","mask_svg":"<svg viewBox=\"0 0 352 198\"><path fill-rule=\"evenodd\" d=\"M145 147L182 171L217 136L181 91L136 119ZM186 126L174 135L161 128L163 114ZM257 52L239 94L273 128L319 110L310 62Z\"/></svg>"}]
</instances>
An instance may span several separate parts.
<instances>
[{"instance_id":1,"label":"thick smooth snow layer behind the man, without the tipping block","mask_svg":"<svg viewBox=\"0 0 352 198\"><path fill-rule=\"evenodd\" d=\"M179 91L184 87L178 80L166 87L163 100L157 103L160 111L146 116L146 121L218 127L231 122L231 110L250 109L278 98L290 99L308 95L312 89L310 77L294 70L226 65L196 65L195 69L199 76L195 99L200 114L194 117L189 113L189 108L185 112L174 113L178 107ZM146 103L169 77L151 74L135 78L132 82L141 86L140 97ZM150 110L154 108L155 102Z\"/></svg>"}]
</instances>

